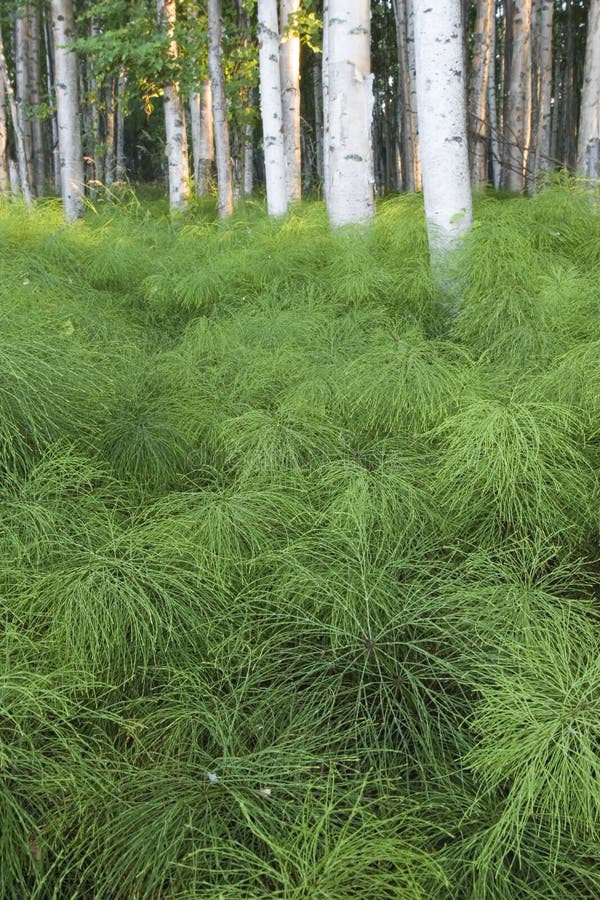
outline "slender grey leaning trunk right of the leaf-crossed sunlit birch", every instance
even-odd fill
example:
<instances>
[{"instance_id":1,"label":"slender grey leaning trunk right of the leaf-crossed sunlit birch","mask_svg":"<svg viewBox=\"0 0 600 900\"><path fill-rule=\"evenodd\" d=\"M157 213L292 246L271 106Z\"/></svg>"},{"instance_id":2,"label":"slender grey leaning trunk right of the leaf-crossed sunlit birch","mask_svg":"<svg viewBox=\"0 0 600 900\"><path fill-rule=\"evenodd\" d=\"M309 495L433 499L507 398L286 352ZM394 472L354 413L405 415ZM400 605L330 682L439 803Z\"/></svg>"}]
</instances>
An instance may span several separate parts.
<instances>
[{"instance_id":1,"label":"slender grey leaning trunk right of the leaf-crossed sunlit birch","mask_svg":"<svg viewBox=\"0 0 600 900\"><path fill-rule=\"evenodd\" d=\"M208 67L212 82L218 207L219 215L225 217L233 212L233 171L223 75L221 19L221 0L208 0Z\"/></svg>"}]
</instances>

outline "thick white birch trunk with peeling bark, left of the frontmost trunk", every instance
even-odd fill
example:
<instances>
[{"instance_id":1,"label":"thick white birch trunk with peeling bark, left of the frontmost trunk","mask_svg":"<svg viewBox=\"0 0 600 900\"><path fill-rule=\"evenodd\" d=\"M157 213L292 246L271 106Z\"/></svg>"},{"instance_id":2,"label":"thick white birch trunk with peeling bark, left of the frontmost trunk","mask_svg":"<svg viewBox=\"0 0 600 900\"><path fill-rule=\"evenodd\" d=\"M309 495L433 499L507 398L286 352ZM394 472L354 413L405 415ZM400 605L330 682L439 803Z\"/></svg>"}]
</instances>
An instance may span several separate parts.
<instances>
[{"instance_id":1,"label":"thick white birch trunk with peeling bark, left of the frontmost trunk","mask_svg":"<svg viewBox=\"0 0 600 900\"><path fill-rule=\"evenodd\" d=\"M369 0L329 0L327 212L334 227L375 214Z\"/></svg>"}]
</instances>

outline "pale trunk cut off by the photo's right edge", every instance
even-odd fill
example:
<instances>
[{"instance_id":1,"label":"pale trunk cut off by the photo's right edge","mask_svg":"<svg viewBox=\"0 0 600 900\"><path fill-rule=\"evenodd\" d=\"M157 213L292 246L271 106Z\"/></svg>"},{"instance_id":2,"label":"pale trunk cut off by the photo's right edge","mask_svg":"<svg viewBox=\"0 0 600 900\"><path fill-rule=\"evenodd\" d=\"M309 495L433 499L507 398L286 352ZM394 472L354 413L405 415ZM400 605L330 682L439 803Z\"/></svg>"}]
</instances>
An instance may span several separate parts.
<instances>
[{"instance_id":1,"label":"pale trunk cut off by the photo's right edge","mask_svg":"<svg viewBox=\"0 0 600 900\"><path fill-rule=\"evenodd\" d=\"M577 142L577 169L600 178L600 0L591 0Z\"/></svg>"}]
</instances>

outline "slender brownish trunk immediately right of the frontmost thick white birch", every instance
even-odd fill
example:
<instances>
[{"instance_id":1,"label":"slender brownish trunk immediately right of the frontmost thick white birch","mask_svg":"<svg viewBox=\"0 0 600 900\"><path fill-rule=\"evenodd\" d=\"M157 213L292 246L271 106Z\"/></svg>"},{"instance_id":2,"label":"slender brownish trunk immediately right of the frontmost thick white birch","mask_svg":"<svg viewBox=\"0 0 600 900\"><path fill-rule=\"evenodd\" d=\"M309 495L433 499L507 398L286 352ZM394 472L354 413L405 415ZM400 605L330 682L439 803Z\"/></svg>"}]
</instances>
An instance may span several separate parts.
<instances>
[{"instance_id":1,"label":"slender brownish trunk immediately right of the frontmost thick white birch","mask_svg":"<svg viewBox=\"0 0 600 900\"><path fill-rule=\"evenodd\" d=\"M471 180L479 187L488 180L488 146L490 121L488 117L488 84L495 29L496 0L477 0L471 83L469 86L469 146L471 151Z\"/></svg>"}]
</instances>

